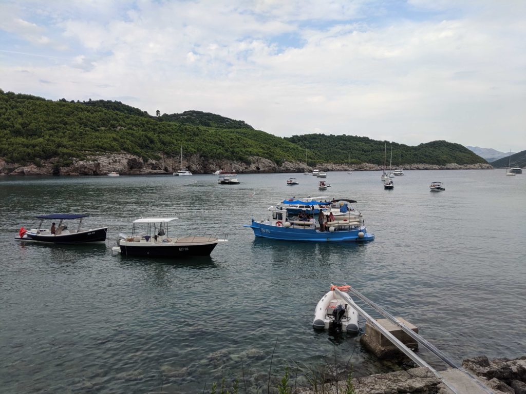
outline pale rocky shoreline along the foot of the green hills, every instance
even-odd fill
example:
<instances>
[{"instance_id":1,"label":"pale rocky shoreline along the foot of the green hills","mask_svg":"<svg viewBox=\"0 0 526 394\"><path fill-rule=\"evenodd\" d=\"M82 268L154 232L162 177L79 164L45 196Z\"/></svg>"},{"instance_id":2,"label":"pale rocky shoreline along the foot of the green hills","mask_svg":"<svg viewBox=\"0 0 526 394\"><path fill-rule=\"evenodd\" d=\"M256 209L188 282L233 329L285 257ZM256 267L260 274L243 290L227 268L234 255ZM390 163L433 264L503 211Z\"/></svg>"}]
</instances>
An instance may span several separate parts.
<instances>
[{"instance_id":1,"label":"pale rocky shoreline along the foot of the green hills","mask_svg":"<svg viewBox=\"0 0 526 394\"><path fill-rule=\"evenodd\" d=\"M284 161L281 165L261 157L250 157L249 163L230 160L207 160L199 155L190 155L183 162L195 174L209 174L216 170L224 169L238 173L294 173L312 171L305 163ZM179 170L181 163L177 158L159 155L158 159L143 158L129 153L107 153L88 156L85 160L70 159L63 163L58 158L42 160L39 163L7 163L0 158L0 175L106 175L109 172L118 172L122 175L158 175L172 174ZM408 164L404 170L490 170L490 164L477 163L459 165L450 163L436 164ZM321 163L316 166L322 171L348 171L347 164ZM362 163L351 165L352 171L381 171L382 167L376 164Z\"/></svg>"}]
</instances>

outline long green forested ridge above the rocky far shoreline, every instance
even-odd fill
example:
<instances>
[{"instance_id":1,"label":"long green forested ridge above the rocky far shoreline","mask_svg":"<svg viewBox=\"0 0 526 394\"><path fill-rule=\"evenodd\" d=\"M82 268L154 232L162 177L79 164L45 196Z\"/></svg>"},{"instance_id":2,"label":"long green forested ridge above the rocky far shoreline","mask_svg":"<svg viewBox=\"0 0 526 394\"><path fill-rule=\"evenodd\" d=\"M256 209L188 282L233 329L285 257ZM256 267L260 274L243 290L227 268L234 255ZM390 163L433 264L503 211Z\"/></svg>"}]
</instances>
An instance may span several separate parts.
<instances>
[{"instance_id":1,"label":"long green forested ridge above the rocky far shoreline","mask_svg":"<svg viewBox=\"0 0 526 394\"><path fill-rule=\"evenodd\" d=\"M119 101L58 101L0 89L0 158L27 163L50 158L64 162L87 155L127 152L144 159L159 154L205 160L250 162L251 157L318 163L383 165L384 142L366 137L308 134L280 138L254 130L244 121L212 113L185 111L150 116ZM390 154L387 144L387 154ZM393 143L393 166L473 164L484 159L459 144L434 141L410 147Z\"/></svg>"}]
</instances>

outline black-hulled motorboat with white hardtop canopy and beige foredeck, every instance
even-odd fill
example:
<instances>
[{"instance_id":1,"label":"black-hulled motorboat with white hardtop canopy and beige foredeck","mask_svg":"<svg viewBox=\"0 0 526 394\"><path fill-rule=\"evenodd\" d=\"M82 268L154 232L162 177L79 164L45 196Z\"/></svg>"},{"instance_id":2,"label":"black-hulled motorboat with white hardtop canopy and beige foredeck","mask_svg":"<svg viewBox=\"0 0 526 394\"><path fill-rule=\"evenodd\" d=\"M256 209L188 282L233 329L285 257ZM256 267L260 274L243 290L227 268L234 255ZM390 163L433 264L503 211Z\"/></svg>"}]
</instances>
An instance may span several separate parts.
<instances>
[{"instance_id":1,"label":"black-hulled motorboat with white hardtop canopy and beige foredeck","mask_svg":"<svg viewBox=\"0 0 526 394\"><path fill-rule=\"evenodd\" d=\"M149 257L209 256L216 245L226 242L215 236L172 236L168 224L177 217L143 217L133 222L131 236L119 234L112 253ZM143 231L146 230L146 231Z\"/></svg>"}]
</instances>

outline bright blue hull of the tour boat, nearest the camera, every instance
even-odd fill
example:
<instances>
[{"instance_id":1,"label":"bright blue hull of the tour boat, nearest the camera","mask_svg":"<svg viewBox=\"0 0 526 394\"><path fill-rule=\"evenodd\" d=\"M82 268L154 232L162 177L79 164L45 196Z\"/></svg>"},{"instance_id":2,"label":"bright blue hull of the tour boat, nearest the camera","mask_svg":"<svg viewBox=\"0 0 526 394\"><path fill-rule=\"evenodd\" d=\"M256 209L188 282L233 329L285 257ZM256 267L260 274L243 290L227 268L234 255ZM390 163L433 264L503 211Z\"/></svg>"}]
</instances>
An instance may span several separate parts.
<instances>
[{"instance_id":1,"label":"bright blue hull of the tour boat, nearest the camera","mask_svg":"<svg viewBox=\"0 0 526 394\"><path fill-rule=\"evenodd\" d=\"M313 228L293 228L260 223L252 219L250 227L254 235L282 241L306 242L366 242L375 239L364 226L354 226L353 230L319 231ZM360 233L362 236L360 236Z\"/></svg>"}]
</instances>

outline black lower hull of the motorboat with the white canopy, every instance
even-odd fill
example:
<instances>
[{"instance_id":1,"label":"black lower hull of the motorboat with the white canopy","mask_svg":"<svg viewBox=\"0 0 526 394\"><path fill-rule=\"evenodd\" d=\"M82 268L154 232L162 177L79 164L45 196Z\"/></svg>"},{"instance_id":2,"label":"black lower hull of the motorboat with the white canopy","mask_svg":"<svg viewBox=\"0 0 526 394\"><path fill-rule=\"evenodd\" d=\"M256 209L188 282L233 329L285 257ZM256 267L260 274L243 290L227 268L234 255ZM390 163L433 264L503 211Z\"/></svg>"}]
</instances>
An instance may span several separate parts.
<instances>
[{"instance_id":1,"label":"black lower hull of the motorboat with the white canopy","mask_svg":"<svg viewBox=\"0 0 526 394\"><path fill-rule=\"evenodd\" d=\"M129 245L121 243L120 253L127 256L145 257L191 257L209 256L216 247L217 242L207 244L154 244L154 245Z\"/></svg>"}]
</instances>

